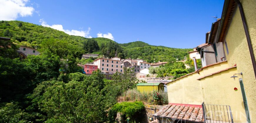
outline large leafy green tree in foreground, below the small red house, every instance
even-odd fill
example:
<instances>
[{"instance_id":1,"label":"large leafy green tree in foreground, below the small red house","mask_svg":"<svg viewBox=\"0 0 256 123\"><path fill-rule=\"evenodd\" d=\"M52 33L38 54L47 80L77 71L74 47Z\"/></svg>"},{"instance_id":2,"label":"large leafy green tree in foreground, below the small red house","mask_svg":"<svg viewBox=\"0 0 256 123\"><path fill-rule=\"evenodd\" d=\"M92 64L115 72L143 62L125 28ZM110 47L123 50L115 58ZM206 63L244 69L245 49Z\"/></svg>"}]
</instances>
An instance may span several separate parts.
<instances>
[{"instance_id":1,"label":"large leafy green tree in foreground, below the small red house","mask_svg":"<svg viewBox=\"0 0 256 123\"><path fill-rule=\"evenodd\" d=\"M95 71L84 81L58 82L49 86L39 102L47 121L103 122L106 119L104 75Z\"/></svg>"}]
</instances>

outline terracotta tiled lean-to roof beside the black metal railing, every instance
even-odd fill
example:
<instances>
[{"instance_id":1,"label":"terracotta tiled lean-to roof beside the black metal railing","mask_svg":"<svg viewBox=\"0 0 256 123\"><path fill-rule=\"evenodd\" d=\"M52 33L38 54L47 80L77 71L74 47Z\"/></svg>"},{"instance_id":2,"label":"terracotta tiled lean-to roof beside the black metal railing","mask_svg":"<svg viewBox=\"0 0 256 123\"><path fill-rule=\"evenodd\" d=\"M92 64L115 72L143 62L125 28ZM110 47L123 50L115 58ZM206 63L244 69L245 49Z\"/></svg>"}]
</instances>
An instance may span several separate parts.
<instances>
[{"instance_id":1,"label":"terracotta tiled lean-to roof beside the black metal railing","mask_svg":"<svg viewBox=\"0 0 256 123\"><path fill-rule=\"evenodd\" d=\"M165 105L153 116L171 119L181 119L194 122L204 122L203 109L199 106L191 105Z\"/></svg>"}]
</instances>

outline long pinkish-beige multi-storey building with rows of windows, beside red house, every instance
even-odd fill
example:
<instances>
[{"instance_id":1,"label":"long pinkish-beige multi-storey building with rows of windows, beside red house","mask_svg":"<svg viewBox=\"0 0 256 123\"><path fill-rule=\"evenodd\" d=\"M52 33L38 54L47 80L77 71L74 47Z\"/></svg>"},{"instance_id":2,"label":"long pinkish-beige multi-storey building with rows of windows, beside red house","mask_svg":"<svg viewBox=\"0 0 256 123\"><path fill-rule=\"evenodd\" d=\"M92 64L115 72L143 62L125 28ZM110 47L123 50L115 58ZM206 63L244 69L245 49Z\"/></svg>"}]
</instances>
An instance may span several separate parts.
<instances>
[{"instance_id":1,"label":"long pinkish-beige multi-storey building with rows of windows, beside red house","mask_svg":"<svg viewBox=\"0 0 256 123\"><path fill-rule=\"evenodd\" d=\"M94 60L94 65L97 65L104 74L114 74L117 71L124 72L124 66L121 65L119 60L98 58Z\"/></svg>"}]
</instances>

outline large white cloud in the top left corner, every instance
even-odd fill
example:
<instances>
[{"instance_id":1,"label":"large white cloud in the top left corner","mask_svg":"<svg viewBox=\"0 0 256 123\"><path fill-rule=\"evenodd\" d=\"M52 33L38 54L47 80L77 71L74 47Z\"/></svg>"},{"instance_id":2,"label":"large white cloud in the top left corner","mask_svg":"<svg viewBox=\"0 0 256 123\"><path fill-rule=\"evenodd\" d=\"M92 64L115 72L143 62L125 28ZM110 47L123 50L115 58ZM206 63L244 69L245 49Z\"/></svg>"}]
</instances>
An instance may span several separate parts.
<instances>
[{"instance_id":1,"label":"large white cloud in the top left corner","mask_svg":"<svg viewBox=\"0 0 256 123\"><path fill-rule=\"evenodd\" d=\"M34 8L26 6L27 3L28 0L0 0L0 20L32 16Z\"/></svg>"}]
</instances>

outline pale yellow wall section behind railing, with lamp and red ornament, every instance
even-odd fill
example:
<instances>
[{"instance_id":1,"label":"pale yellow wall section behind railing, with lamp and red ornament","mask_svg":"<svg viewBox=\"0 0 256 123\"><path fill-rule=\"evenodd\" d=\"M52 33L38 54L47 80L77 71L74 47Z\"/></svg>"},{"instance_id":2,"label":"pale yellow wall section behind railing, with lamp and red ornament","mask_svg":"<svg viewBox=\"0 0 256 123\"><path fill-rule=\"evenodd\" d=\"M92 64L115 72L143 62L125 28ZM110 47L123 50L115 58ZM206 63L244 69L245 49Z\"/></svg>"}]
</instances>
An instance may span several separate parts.
<instances>
[{"instance_id":1,"label":"pale yellow wall section behind railing, with lamp and red ornament","mask_svg":"<svg viewBox=\"0 0 256 123\"><path fill-rule=\"evenodd\" d=\"M205 104L230 105L234 122L246 122L245 108L239 78L230 78L237 72L232 68L201 79L203 101ZM237 91L234 88L238 88ZM220 109L218 109L220 111ZM219 114L224 114L223 110ZM213 114L214 115L214 114ZM215 116L213 117L215 118ZM219 117L216 117L218 120ZM224 119L224 118L223 118ZM220 119L222 121L222 119Z\"/></svg>"}]
</instances>

